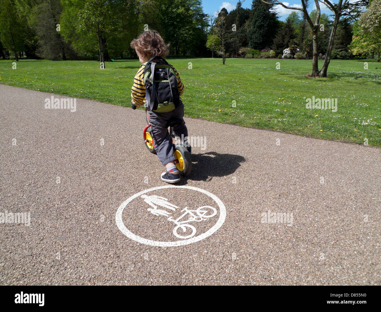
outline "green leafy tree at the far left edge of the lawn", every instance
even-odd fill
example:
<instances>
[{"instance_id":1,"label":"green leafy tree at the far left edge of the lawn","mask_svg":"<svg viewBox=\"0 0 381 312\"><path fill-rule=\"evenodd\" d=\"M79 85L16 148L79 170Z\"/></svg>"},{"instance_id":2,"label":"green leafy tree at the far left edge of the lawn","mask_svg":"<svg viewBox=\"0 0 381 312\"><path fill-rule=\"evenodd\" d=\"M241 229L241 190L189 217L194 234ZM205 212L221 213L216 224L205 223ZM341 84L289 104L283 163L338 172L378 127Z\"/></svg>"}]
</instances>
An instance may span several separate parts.
<instances>
[{"instance_id":1,"label":"green leafy tree at the far left edge of the lawn","mask_svg":"<svg viewBox=\"0 0 381 312\"><path fill-rule=\"evenodd\" d=\"M4 48L12 51L14 58L18 61L19 52L24 50L26 33L12 0L1 0L0 2L0 30L0 41Z\"/></svg>"}]
</instances>

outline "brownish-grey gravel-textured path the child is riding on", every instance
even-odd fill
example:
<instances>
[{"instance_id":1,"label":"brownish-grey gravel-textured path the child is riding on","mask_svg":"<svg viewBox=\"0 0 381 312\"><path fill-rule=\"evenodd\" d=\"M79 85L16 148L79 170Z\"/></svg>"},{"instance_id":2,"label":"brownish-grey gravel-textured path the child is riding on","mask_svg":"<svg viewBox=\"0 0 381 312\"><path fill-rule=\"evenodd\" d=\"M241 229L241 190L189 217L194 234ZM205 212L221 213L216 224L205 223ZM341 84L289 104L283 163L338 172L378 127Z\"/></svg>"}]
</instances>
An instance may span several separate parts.
<instances>
[{"instance_id":1,"label":"brownish-grey gravel-textured path the child is riding on","mask_svg":"<svg viewBox=\"0 0 381 312\"><path fill-rule=\"evenodd\" d=\"M381 149L184 118L206 146L178 186L215 195L226 218L207 236L224 214L207 192L144 193L173 205L161 202L166 216L138 195L120 214L132 234L185 241L191 227L173 220L187 207L190 239L206 236L152 246L115 219L126 199L168 185L142 141L144 111L45 109L52 95L66 98L0 85L1 285L381 285ZM201 206L216 214L192 220L212 214Z\"/></svg>"}]
</instances>

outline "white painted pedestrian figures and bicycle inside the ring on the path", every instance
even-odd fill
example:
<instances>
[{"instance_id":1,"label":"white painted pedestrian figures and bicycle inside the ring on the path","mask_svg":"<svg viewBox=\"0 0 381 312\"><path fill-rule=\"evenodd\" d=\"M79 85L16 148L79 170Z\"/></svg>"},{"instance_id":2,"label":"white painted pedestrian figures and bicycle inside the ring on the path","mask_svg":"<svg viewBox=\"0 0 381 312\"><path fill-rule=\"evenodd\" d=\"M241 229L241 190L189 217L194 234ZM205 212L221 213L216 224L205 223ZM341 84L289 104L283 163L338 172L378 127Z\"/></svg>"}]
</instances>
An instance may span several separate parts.
<instances>
[{"instance_id":1,"label":"white painted pedestrian figures and bicycle inside the ring on the path","mask_svg":"<svg viewBox=\"0 0 381 312\"><path fill-rule=\"evenodd\" d=\"M190 222L201 222L217 214L216 208L212 206L201 206L196 210L189 210L188 207L185 207L181 210L182 215L179 216L179 218L174 219L172 216L170 216L170 214L172 213L157 208L157 206L161 206L163 208L167 208L173 211L176 211L176 208L179 208L178 206L168 202L167 198L156 195L147 196L146 194L141 195L141 198L144 198L144 202L153 207L147 209L148 211L150 211L150 213L154 214L155 216L162 215L169 217L167 220L176 224L176 227L174 227L173 229L173 235L178 238L190 238L196 234L196 228L189 224ZM186 217L187 219L184 219ZM187 229L190 229L192 232L188 235L181 235L181 231L180 234L178 233L179 229L182 229L182 234L187 232Z\"/></svg>"}]
</instances>

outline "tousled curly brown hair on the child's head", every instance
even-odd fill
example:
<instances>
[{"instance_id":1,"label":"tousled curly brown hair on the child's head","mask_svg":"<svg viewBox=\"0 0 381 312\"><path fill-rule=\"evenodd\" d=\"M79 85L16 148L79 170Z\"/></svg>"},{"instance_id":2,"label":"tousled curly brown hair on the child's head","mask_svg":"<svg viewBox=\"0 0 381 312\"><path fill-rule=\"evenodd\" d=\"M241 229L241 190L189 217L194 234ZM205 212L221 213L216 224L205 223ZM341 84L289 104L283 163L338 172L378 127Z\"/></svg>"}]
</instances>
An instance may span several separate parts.
<instances>
[{"instance_id":1,"label":"tousled curly brown hair on the child's head","mask_svg":"<svg viewBox=\"0 0 381 312\"><path fill-rule=\"evenodd\" d=\"M165 58L169 53L168 46L169 44L166 45L163 38L155 30L146 30L138 39L131 41L131 48L138 50L148 59L155 55Z\"/></svg>"}]
</instances>

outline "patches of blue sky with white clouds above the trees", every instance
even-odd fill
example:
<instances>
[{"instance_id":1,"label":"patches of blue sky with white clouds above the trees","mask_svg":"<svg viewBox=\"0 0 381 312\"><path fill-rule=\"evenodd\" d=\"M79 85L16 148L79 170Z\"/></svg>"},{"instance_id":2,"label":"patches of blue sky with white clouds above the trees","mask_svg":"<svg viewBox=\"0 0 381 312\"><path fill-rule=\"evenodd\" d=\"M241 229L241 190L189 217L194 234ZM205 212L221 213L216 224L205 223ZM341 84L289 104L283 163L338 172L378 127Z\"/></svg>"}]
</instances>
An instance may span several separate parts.
<instances>
[{"instance_id":1,"label":"patches of blue sky with white clouds above the trees","mask_svg":"<svg viewBox=\"0 0 381 312\"><path fill-rule=\"evenodd\" d=\"M280 0L282 1L282 0ZM206 14L214 14L216 11L221 10L222 8L226 8L228 12L231 10L234 10L235 5L237 4L238 0L234 1L220 1L220 0L201 0L202 6L204 8L204 13ZM335 2L335 1L334 1ZM253 0L246 0L243 2L242 7L243 8L251 8L251 3L253 3ZM301 8L301 1L300 0L287 0L282 1L287 6L295 6ZM311 3L312 4L312 3ZM315 3L313 3L313 8L311 10L315 9ZM331 11L325 7L325 5L320 3L320 9L322 13L331 14ZM285 20L287 16L292 12L291 10L287 10L283 8L281 5L277 5L277 12L279 13L280 20ZM300 12L300 11L297 11Z\"/></svg>"}]
</instances>

